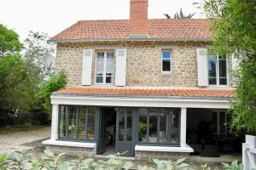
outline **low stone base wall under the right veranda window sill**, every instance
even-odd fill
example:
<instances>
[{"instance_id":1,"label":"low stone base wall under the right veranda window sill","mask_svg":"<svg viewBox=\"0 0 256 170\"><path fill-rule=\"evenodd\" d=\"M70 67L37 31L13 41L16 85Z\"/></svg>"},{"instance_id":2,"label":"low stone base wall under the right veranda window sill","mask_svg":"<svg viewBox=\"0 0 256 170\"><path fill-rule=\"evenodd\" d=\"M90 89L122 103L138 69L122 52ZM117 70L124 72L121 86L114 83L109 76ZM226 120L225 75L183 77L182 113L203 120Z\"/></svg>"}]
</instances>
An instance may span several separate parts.
<instances>
[{"instance_id":1,"label":"low stone base wall under the right veranda window sill","mask_svg":"<svg viewBox=\"0 0 256 170\"><path fill-rule=\"evenodd\" d=\"M189 153L185 152L163 152L163 151L135 151L135 159L142 161L159 160L177 160L179 158L189 157Z\"/></svg>"}]
</instances>

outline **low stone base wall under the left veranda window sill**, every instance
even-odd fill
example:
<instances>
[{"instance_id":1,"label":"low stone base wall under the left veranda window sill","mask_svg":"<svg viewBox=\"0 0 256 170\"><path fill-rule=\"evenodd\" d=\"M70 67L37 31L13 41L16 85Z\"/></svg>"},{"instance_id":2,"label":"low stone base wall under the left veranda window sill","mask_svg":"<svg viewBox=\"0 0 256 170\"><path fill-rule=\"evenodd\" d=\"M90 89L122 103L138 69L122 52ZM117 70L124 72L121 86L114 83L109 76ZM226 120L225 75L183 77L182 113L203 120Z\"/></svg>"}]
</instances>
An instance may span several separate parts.
<instances>
[{"instance_id":1,"label":"low stone base wall under the left veranda window sill","mask_svg":"<svg viewBox=\"0 0 256 170\"><path fill-rule=\"evenodd\" d=\"M82 148L73 146L46 145L46 150L50 150L55 154L66 153L67 156L96 156L96 148Z\"/></svg>"}]
</instances>

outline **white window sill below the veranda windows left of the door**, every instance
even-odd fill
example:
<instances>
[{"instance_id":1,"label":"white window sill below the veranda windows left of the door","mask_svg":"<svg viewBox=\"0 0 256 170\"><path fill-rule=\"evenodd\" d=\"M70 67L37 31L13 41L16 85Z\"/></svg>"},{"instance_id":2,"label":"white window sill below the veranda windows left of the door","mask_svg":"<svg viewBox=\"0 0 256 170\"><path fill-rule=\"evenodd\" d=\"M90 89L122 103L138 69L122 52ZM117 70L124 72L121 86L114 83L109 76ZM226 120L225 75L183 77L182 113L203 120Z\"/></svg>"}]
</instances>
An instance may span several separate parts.
<instances>
[{"instance_id":1,"label":"white window sill below the veranda windows left of the door","mask_svg":"<svg viewBox=\"0 0 256 170\"><path fill-rule=\"evenodd\" d=\"M61 141L61 140L44 140L42 142L44 145L59 145L59 146L72 146L81 148L96 148L96 143L85 143L85 142L73 142L73 141Z\"/></svg>"}]
</instances>

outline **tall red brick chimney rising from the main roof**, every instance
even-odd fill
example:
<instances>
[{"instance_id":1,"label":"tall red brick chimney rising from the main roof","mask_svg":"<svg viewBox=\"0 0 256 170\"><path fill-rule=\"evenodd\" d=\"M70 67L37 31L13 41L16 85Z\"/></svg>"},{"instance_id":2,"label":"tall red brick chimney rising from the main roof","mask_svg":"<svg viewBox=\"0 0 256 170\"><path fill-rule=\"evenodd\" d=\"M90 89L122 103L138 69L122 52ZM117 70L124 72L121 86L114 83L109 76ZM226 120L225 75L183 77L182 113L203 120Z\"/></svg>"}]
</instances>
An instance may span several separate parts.
<instances>
[{"instance_id":1,"label":"tall red brick chimney rising from the main roof","mask_svg":"<svg viewBox=\"0 0 256 170\"><path fill-rule=\"evenodd\" d=\"M130 38L148 37L148 0L130 1Z\"/></svg>"}]
</instances>

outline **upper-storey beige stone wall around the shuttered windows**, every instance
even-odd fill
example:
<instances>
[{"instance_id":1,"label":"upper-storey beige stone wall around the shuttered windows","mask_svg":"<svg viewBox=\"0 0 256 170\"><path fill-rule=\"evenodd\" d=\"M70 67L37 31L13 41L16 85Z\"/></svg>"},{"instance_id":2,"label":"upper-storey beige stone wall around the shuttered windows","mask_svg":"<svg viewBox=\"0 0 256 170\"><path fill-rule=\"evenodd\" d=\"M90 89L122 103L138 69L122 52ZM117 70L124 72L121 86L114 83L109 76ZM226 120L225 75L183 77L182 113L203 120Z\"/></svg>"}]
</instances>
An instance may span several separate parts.
<instances>
[{"instance_id":1,"label":"upper-storey beige stone wall around the shuttered windows","mask_svg":"<svg viewBox=\"0 0 256 170\"><path fill-rule=\"evenodd\" d=\"M91 86L99 87L102 85L95 83L96 51L126 48L126 86L196 88L198 87L196 48L206 46L206 42L62 42L57 44L55 71L67 72L68 87L81 86L83 50L92 48L94 54ZM161 72L163 49L172 50L171 73ZM228 59L228 64L231 87L231 58ZM114 81L110 86L114 87Z\"/></svg>"}]
</instances>

